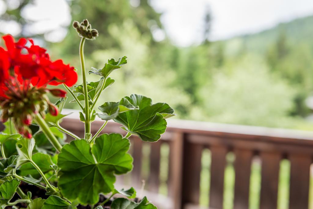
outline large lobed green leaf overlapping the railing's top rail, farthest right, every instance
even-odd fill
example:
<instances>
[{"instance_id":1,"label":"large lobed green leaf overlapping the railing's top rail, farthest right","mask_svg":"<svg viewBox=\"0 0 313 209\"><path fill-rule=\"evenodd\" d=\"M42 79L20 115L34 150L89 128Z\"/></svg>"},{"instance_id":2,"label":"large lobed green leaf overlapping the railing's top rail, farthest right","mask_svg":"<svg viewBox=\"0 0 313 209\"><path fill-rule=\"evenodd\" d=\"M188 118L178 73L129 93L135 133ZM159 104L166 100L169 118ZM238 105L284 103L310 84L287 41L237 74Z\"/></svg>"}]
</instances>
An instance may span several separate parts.
<instances>
[{"instance_id":1,"label":"large lobed green leaf overlapping the railing's top rail, farthest right","mask_svg":"<svg viewBox=\"0 0 313 209\"><path fill-rule=\"evenodd\" d=\"M120 113L113 120L125 126L124 130L137 135L143 141L157 141L166 130L167 122L164 117L174 116L174 110L166 103L152 104L145 96L132 94L125 97L139 110Z\"/></svg>"}]
</instances>

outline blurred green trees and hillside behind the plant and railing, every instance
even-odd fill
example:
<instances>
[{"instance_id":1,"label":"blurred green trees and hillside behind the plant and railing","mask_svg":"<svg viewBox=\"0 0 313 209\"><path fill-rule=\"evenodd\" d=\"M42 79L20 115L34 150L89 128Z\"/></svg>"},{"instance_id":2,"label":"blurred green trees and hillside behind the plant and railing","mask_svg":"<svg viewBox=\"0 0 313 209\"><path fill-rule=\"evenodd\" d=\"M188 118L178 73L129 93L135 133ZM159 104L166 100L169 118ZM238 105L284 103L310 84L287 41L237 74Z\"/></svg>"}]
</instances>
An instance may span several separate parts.
<instances>
[{"instance_id":1,"label":"blurred green trees and hillside behind the plant and railing","mask_svg":"<svg viewBox=\"0 0 313 209\"><path fill-rule=\"evenodd\" d=\"M19 12L32 2L22 2L2 18L15 16L22 25L29 22ZM136 93L150 95L155 102L167 101L181 119L312 129L305 100L313 89L313 17L182 48L168 38L153 39L153 28L162 29L161 14L148 0L140 0L138 7L115 0L74 0L69 5L73 20L87 18L100 34L86 44L87 69L102 68L111 57L128 57L127 66L115 72L120 85L110 87L99 105ZM203 20L210 21L208 17ZM203 36L207 33L206 29ZM35 37L43 39L41 34ZM53 58L79 69L79 41L69 26L61 43L45 44ZM90 78L96 81L97 76Z\"/></svg>"}]
</instances>

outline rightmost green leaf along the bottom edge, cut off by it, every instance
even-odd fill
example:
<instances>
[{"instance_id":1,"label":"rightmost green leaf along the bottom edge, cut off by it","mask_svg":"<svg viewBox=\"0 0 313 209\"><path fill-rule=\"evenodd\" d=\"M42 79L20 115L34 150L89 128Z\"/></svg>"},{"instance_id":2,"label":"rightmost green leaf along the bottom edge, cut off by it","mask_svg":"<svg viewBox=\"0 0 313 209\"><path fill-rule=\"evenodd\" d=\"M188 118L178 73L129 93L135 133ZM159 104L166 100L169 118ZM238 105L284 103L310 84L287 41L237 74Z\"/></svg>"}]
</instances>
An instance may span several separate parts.
<instances>
[{"instance_id":1,"label":"rightmost green leaf along the bottom edge, cut off by it","mask_svg":"<svg viewBox=\"0 0 313 209\"><path fill-rule=\"evenodd\" d=\"M157 207L149 203L146 197L139 203L125 198L117 198L112 202L111 209L157 209Z\"/></svg>"}]
</instances>

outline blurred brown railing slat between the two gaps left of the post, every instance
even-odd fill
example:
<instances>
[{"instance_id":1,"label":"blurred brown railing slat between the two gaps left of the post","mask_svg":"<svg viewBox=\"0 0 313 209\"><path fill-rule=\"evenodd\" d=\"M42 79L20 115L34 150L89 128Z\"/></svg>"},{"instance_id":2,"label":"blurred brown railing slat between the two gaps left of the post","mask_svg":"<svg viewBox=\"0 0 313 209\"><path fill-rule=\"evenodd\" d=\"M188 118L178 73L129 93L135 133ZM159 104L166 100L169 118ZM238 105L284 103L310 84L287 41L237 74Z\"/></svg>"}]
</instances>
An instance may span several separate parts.
<instances>
[{"instance_id":1,"label":"blurred brown railing slat between the two gaps left of the post","mask_svg":"<svg viewBox=\"0 0 313 209\"><path fill-rule=\"evenodd\" d=\"M155 193L159 192L160 184L160 159L161 159L161 140L151 143L150 151L150 174L148 178L149 190Z\"/></svg>"}]
</instances>

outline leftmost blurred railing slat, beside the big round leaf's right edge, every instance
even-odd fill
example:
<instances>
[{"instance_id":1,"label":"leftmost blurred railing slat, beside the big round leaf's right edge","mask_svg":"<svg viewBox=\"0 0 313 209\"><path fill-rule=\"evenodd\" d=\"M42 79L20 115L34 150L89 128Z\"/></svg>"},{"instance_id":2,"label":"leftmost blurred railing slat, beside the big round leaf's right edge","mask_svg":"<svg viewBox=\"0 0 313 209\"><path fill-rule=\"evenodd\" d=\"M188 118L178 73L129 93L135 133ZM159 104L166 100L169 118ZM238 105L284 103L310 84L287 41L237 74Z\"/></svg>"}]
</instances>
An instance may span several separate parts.
<instances>
[{"instance_id":1,"label":"leftmost blurred railing slat, beside the big round leaf's right edge","mask_svg":"<svg viewBox=\"0 0 313 209\"><path fill-rule=\"evenodd\" d=\"M131 180L136 188L141 188L141 164L142 164L142 141L137 137L131 141L133 146L134 169L131 172Z\"/></svg>"}]
</instances>

